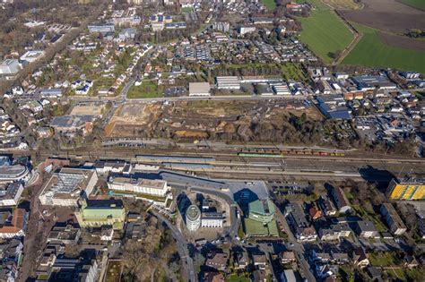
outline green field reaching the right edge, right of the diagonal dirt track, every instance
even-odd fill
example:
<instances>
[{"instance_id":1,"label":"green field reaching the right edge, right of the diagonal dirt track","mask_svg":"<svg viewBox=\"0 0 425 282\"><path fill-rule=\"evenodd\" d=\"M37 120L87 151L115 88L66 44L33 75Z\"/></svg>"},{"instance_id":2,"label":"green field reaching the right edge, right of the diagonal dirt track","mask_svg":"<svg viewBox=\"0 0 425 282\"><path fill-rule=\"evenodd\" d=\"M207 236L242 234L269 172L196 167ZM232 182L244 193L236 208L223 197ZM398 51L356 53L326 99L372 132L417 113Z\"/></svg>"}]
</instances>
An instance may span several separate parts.
<instances>
[{"instance_id":1,"label":"green field reaching the right edge, right of the diagonal dirt track","mask_svg":"<svg viewBox=\"0 0 425 282\"><path fill-rule=\"evenodd\" d=\"M379 38L377 30L360 24L353 25L363 33L363 37L342 64L392 67L425 73L425 52L387 46Z\"/></svg>"}]
</instances>

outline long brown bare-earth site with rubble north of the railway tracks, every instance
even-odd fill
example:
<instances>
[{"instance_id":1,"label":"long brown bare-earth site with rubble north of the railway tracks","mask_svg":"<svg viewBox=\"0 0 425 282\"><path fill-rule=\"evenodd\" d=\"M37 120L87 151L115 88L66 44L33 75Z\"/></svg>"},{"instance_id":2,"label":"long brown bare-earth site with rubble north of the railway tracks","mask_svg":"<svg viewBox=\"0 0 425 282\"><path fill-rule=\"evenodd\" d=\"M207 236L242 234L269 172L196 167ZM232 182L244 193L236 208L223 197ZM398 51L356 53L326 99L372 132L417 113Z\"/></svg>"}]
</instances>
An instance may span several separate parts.
<instances>
[{"instance_id":1,"label":"long brown bare-earth site with rubble north of the railway tracks","mask_svg":"<svg viewBox=\"0 0 425 282\"><path fill-rule=\"evenodd\" d=\"M131 103L117 108L105 127L105 135L173 140L302 138L308 141L305 132L315 132L323 119L315 107L305 108L301 101L291 99ZM310 135L320 138L314 133Z\"/></svg>"}]
</instances>

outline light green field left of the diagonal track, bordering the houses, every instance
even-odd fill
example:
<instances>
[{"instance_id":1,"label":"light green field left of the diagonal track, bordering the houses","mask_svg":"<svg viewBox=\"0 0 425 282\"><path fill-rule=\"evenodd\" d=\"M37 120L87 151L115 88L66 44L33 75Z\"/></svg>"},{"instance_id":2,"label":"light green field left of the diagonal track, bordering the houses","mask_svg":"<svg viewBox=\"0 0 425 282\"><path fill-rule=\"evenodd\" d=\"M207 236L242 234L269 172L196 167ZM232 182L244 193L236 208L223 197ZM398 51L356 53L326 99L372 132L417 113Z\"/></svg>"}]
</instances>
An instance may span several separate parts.
<instances>
[{"instance_id":1,"label":"light green field left of the diagonal track, bordering the houses","mask_svg":"<svg viewBox=\"0 0 425 282\"><path fill-rule=\"evenodd\" d=\"M335 53L343 51L354 38L343 21L323 6L299 21L302 25L300 40L326 64L331 63Z\"/></svg>"}]
</instances>

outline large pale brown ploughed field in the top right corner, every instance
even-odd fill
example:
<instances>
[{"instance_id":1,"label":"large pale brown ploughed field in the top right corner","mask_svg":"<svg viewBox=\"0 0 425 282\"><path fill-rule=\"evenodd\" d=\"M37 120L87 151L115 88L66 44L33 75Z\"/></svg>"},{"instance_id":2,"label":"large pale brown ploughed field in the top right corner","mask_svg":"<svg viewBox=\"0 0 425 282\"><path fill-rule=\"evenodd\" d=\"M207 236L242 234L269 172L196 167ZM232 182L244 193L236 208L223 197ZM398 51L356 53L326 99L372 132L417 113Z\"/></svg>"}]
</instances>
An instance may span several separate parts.
<instances>
[{"instance_id":1,"label":"large pale brown ploughed field in the top right corner","mask_svg":"<svg viewBox=\"0 0 425 282\"><path fill-rule=\"evenodd\" d=\"M395 0L362 0L361 10L341 10L348 21L355 21L377 30L403 34L410 29L425 29L423 12Z\"/></svg>"}]
</instances>

